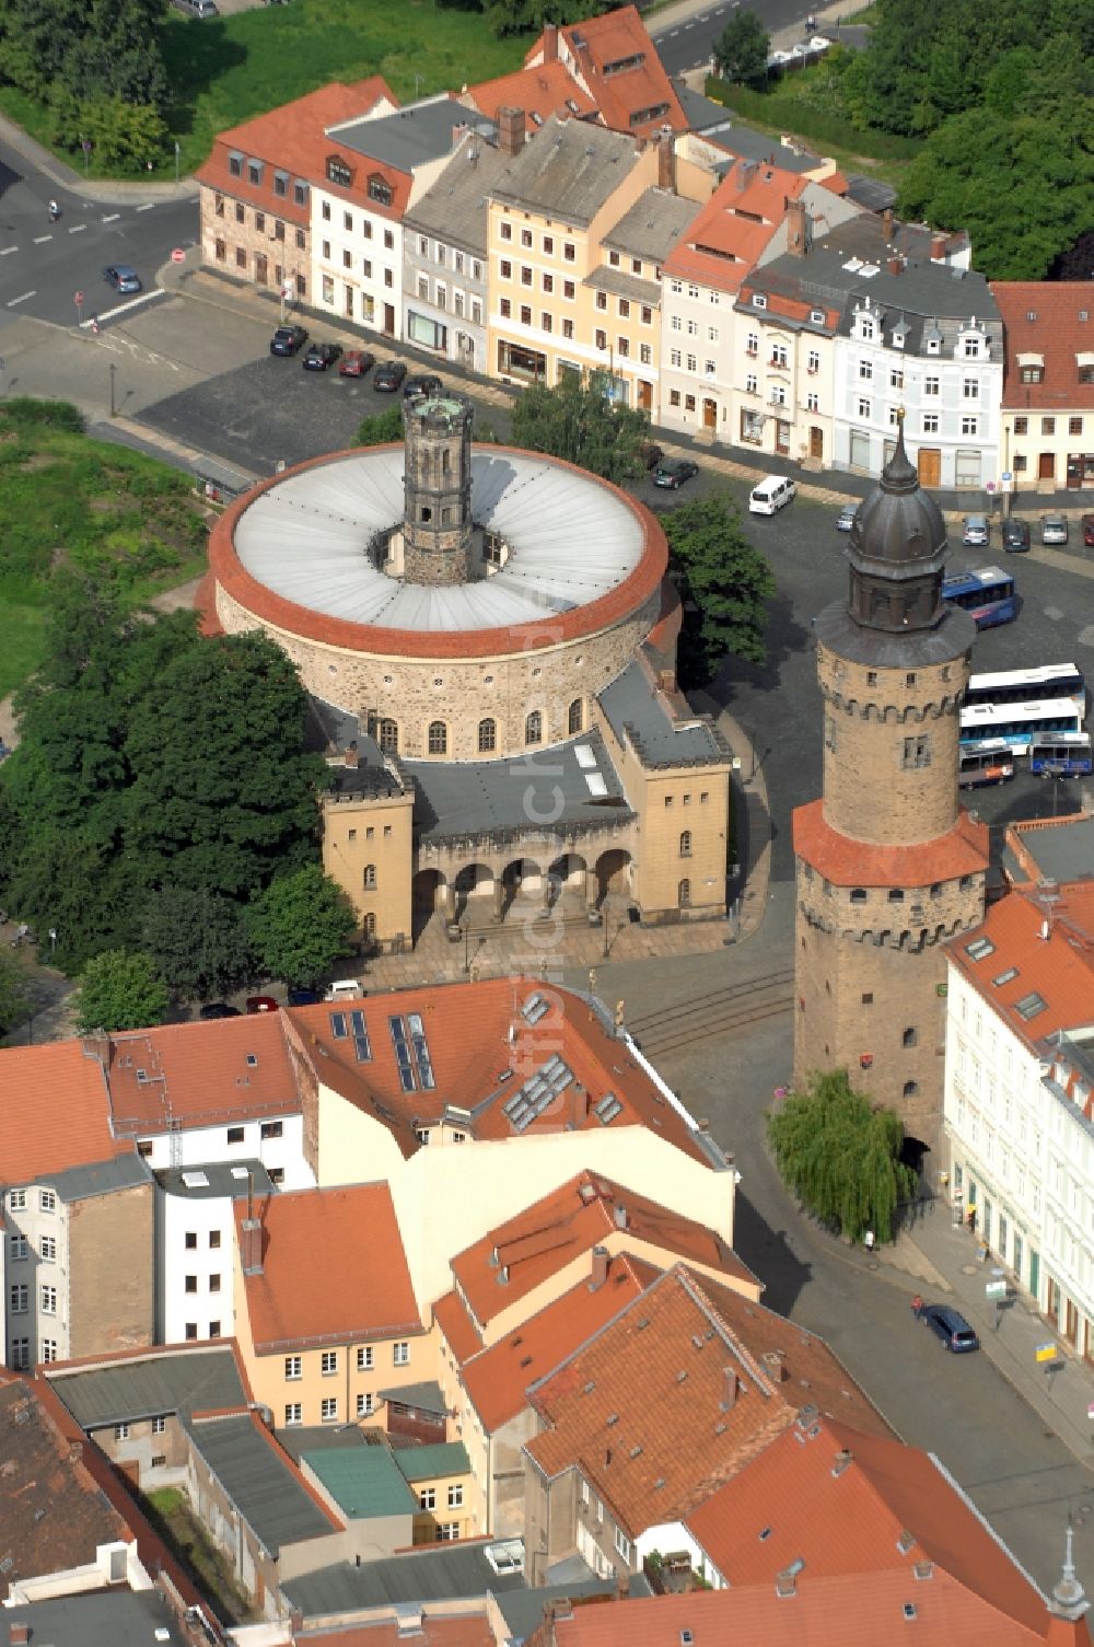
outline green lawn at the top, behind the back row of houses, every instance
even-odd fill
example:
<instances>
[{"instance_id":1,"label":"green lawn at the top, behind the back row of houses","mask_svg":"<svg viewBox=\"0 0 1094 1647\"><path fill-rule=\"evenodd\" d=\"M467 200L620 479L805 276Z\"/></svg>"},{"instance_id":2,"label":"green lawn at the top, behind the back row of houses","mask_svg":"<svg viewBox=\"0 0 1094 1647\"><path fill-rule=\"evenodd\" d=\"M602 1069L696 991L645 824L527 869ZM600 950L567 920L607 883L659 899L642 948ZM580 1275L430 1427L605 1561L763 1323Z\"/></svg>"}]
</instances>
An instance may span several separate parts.
<instances>
[{"instance_id":1,"label":"green lawn at the top, behind the back row of houses","mask_svg":"<svg viewBox=\"0 0 1094 1647\"><path fill-rule=\"evenodd\" d=\"M181 173L201 165L217 132L330 81L382 74L395 97L409 102L507 74L521 66L529 43L531 36L494 40L479 13L438 10L433 0L292 0L208 21L171 12L161 44ZM5 86L0 109L49 143L40 104ZM168 152L152 176L175 176L173 145ZM82 170L79 153L64 158ZM91 175L97 175L94 155Z\"/></svg>"}]
</instances>

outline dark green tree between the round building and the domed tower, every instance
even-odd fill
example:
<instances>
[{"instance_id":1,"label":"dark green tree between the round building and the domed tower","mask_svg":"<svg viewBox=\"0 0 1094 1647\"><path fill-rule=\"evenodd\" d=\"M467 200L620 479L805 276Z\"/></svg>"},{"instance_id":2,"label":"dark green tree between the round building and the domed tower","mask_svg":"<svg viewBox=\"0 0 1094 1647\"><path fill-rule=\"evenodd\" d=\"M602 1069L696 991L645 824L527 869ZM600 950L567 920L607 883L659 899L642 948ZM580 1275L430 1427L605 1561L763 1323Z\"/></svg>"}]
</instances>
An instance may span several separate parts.
<instances>
[{"instance_id":1,"label":"dark green tree between the round building and the domed tower","mask_svg":"<svg viewBox=\"0 0 1094 1647\"><path fill-rule=\"evenodd\" d=\"M708 492L662 516L684 603L680 684L708 680L727 652L763 664L774 576L748 542L728 492Z\"/></svg>"}]
</instances>

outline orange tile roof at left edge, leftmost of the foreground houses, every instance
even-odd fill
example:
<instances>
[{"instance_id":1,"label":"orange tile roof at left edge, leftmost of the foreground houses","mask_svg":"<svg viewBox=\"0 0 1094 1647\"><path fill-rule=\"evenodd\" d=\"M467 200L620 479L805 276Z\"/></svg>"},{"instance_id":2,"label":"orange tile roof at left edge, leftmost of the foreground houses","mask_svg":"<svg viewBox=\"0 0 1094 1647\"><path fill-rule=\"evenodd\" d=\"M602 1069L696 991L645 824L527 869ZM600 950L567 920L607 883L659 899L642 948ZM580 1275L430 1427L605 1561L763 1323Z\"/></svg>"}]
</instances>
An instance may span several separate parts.
<instances>
[{"instance_id":1,"label":"orange tile roof at left edge, leftmost of the foreground houses","mask_svg":"<svg viewBox=\"0 0 1094 1647\"><path fill-rule=\"evenodd\" d=\"M0 1163L8 1184L133 1151L129 1138L110 1131L102 1067L81 1041L0 1051Z\"/></svg>"}]
</instances>

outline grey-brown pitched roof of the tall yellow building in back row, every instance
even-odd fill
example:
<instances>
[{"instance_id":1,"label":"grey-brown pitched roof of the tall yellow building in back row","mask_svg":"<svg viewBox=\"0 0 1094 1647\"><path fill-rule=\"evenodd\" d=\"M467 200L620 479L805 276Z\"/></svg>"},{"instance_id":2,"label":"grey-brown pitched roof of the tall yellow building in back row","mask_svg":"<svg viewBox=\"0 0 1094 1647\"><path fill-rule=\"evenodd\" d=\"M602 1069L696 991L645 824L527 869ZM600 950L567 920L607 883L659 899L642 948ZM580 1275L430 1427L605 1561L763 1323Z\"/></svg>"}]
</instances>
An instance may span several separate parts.
<instances>
[{"instance_id":1,"label":"grey-brown pitched roof of the tall yellow building in back row","mask_svg":"<svg viewBox=\"0 0 1094 1647\"><path fill-rule=\"evenodd\" d=\"M550 120L503 168L493 198L588 226L626 178L633 137L585 120Z\"/></svg>"}]
</instances>

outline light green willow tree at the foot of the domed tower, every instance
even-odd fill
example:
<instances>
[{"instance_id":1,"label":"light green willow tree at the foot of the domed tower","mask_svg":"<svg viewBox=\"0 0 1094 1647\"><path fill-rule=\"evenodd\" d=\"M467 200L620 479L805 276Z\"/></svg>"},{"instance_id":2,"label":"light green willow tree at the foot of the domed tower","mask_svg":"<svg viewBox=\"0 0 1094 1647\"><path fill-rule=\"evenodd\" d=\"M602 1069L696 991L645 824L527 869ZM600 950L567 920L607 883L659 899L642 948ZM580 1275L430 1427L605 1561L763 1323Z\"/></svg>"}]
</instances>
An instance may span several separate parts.
<instances>
[{"instance_id":1,"label":"light green willow tree at the foot of the domed tower","mask_svg":"<svg viewBox=\"0 0 1094 1647\"><path fill-rule=\"evenodd\" d=\"M914 1168L900 1159L905 1128L893 1110L872 1108L845 1069L814 1074L768 1117L768 1138L786 1187L809 1211L858 1240L893 1239L893 1217L914 1194Z\"/></svg>"}]
</instances>

